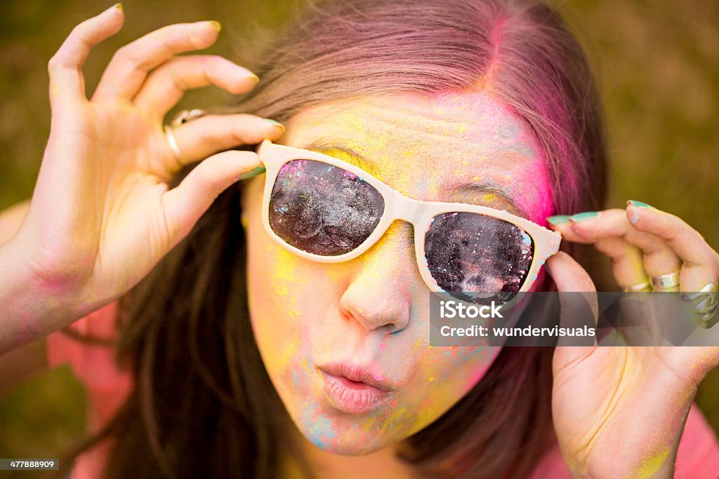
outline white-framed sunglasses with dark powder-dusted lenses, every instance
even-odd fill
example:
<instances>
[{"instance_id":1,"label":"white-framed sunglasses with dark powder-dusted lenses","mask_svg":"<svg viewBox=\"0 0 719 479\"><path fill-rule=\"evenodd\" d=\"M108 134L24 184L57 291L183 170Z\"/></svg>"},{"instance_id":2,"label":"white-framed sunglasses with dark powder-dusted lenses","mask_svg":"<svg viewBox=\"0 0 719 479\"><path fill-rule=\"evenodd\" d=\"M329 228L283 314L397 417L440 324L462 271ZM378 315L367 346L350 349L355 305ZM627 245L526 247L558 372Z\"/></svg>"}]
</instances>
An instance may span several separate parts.
<instances>
[{"instance_id":1,"label":"white-framed sunglasses with dark powder-dusted lenses","mask_svg":"<svg viewBox=\"0 0 719 479\"><path fill-rule=\"evenodd\" d=\"M262 223L302 258L357 258L394 220L406 220L429 289L472 301L528 291L559 251L559 233L505 210L413 200L353 164L270 140L257 154L266 169Z\"/></svg>"}]
</instances>

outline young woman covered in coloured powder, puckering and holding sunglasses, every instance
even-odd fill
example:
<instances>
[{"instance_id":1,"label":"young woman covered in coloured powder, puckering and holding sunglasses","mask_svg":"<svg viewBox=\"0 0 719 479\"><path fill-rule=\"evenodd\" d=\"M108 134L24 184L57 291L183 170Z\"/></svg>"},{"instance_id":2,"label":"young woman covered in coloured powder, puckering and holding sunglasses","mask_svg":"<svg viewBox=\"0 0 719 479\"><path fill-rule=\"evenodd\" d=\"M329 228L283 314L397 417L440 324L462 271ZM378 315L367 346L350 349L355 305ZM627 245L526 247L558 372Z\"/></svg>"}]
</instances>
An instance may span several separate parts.
<instances>
[{"instance_id":1,"label":"young woman covered in coloured powder, puckering and holding sunglasses","mask_svg":"<svg viewBox=\"0 0 719 479\"><path fill-rule=\"evenodd\" d=\"M65 471L715 477L692 401L719 348L429 347L435 285L594 291L573 243L610 256L621 287L718 282L718 254L681 219L600 210L597 95L549 7L334 2L260 55L259 84L178 56L216 22L170 25L119 50L88 100L81 66L123 21L111 7L52 57L40 176L0 248L1 350L52 333L50 363L91 393L96 434ZM209 84L247 95L163 128ZM469 219L421 223L437 202ZM447 259L489 224L479 254ZM563 251L536 242L554 237L541 225Z\"/></svg>"}]
</instances>

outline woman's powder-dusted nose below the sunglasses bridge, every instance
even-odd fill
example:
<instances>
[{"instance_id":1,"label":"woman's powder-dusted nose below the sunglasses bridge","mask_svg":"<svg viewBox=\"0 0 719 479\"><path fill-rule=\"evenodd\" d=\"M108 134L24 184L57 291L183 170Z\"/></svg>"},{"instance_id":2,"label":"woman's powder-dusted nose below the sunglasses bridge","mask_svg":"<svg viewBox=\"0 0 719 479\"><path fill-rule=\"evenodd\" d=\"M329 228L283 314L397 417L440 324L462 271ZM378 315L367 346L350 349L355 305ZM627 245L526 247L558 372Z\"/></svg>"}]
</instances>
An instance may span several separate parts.
<instances>
[{"instance_id":1,"label":"woman's powder-dusted nose below the sunglasses bridge","mask_svg":"<svg viewBox=\"0 0 719 479\"><path fill-rule=\"evenodd\" d=\"M395 220L372 248L352 260L352 279L340 310L367 330L397 332L409 322L411 292L423 284L416 266L413 229Z\"/></svg>"}]
</instances>

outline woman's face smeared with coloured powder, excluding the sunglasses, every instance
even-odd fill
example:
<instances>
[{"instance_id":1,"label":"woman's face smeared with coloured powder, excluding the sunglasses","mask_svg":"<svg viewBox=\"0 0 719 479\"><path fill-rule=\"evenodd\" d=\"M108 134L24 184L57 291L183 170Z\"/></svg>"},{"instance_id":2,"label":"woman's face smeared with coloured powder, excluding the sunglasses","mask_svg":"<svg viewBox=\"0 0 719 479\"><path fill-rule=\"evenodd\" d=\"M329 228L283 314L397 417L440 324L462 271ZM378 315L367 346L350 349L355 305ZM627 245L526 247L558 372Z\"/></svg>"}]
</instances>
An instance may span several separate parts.
<instances>
[{"instance_id":1,"label":"woman's face smeared with coloured powder, excluding the sunglasses","mask_svg":"<svg viewBox=\"0 0 719 479\"><path fill-rule=\"evenodd\" d=\"M551 214L531 136L484 93L326 103L286 126L283 144L357 164L417 200L486 205L536 223ZM301 259L262 226L264 182L249 180L243 198L249 311L267 373L298 429L324 450L361 455L434 422L475 386L499 348L429 347L430 295L412 225L395 221L351 261ZM457 190L468 182L483 188ZM382 383L350 381L332 364L366 368Z\"/></svg>"}]
</instances>

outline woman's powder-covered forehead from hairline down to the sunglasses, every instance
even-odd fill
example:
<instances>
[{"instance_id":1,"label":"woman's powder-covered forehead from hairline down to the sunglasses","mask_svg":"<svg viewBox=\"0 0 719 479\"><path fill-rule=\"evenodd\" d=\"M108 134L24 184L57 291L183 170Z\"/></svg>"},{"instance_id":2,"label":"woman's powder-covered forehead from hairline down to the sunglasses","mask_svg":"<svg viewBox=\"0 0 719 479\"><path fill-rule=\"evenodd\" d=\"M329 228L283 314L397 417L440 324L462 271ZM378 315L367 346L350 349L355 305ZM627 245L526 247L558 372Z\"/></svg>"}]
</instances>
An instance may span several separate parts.
<instances>
[{"instance_id":1,"label":"woman's powder-covered forehead from hairline down to the sunglasses","mask_svg":"<svg viewBox=\"0 0 719 479\"><path fill-rule=\"evenodd\" d=\"M323 103L286 126L283 143L354 162L409 197L484 204L533 220L551 213L533 138L482 92Z\"/></svg>"}]
</instances>

